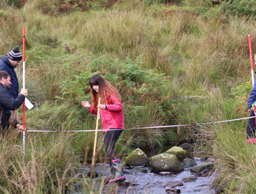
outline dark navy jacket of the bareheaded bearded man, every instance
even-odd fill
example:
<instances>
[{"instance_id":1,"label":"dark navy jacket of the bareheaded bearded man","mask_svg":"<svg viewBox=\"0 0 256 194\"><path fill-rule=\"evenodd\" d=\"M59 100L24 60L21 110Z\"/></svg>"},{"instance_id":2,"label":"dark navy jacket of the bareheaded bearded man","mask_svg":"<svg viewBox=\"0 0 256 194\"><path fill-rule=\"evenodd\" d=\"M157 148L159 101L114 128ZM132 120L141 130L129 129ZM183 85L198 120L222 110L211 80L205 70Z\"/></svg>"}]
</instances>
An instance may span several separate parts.
<instances>
[{"instance_id":1,"label":"dark navy jacket of the bareheaded bearded man","mask_svg":"<svg viewBox=\"0 0 256 194\"><path fill-rule=\"evenodd\" d=\"M23 94L19 94L17 98L13 98L8 93L8 90L0 83L0 116L1 116L1 129L5 130L9 127L10 110L17 109L22 105L25 100ZM17 121L15 120L15 126Z\"/></svg>"}]
</instances>

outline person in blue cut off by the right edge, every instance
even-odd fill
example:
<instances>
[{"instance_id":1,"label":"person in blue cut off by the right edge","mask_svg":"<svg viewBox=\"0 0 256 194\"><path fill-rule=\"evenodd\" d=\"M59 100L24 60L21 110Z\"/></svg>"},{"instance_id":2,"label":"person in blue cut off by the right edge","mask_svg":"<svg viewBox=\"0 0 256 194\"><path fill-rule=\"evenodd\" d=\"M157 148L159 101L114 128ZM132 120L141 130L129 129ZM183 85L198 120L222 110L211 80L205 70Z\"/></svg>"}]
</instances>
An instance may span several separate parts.
<instances>
[{"instance_id":1,"label":"person in blue cut off by the right edge","mask_svg":"<svg viewBox=\"0 0 256 194\"><path fill-rule=\"evenodd\" d=\"M255 106L256 106L256 81L254 82L253 89L250 92L250 97L248 98L248 109L250 110L250 116L255 116ZM247 143L256 143L255 138L255 118L249 118L246 128Z\"/></svg>"}]
</instances>

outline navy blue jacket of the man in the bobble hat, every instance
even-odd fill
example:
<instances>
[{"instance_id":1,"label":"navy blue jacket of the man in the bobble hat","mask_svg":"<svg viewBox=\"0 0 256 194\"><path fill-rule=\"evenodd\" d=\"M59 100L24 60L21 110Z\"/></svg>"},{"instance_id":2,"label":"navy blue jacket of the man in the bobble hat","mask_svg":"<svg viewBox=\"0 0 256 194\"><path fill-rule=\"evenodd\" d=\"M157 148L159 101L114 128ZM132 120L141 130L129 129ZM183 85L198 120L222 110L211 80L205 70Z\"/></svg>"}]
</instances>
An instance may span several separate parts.
<instances>
[{"instance_id":1,"label":"navy blue jacket of the man in the bobble hat","mask_svg":"<svg viewBox=\"0 0 256 194\"><path fill-rule=\"evenodd\" d=\"M10 89L8 90L8 92L10 96L16 98L19 94L19 82L14 67L12 64L10 64L7 55L3 55L0 61L0 71L3 70L7 71L7 73L10 74L10 82L12 82L12 85L10 85Z\"/></svg>"}]
</instances>

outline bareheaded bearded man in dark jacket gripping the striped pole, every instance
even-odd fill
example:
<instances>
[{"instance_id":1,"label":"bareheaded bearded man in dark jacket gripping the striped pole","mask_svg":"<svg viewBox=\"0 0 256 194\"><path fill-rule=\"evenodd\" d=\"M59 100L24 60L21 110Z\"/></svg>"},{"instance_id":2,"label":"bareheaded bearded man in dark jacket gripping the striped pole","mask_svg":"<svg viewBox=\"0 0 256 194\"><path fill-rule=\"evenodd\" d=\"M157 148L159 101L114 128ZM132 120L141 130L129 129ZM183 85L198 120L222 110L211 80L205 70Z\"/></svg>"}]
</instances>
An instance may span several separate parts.
<instances>
[{"instance_id":1,"label":"bareheaded bearded man in dark jacket gripping the striped pole","mask_svg":"<svg viewBox=\"0 0 256 194\"><path fill-rule=\"evenodd\" d=\"M0 71L0 116L1 116L1 132L4 134L10 123L13 122L14 127L17 127L20 130L23 130L23 126L14 119L10 121L10 110L17 109L25 100L25 97L28 96L27 89L22 89L20 94L16 98L10 96L8 89L12 83L10 82L10 74L6 71Z\"/></svg>"}]
</instances>

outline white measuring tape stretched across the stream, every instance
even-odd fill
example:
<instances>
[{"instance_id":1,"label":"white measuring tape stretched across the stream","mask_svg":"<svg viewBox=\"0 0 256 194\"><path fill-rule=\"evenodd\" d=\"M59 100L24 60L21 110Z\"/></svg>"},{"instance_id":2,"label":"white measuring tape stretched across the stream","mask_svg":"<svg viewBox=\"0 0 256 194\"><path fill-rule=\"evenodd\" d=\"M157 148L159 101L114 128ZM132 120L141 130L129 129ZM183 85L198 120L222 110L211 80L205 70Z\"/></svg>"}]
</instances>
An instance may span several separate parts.
<instances>
[{"instance_id":1,"label":"white measuring tape stretched across the stream","mask_svg":"<svg viewBox=\"0 0 256 194\"><path fill-rule=\"evenodd\" d=\"M154 129L154 128L167 128L167 127L186 127L191 125L207 125L207 124L215 124L215 123L225 123L225 122L231 122L231 121L240 121L245 120L249 118L255 118L255 116L249 116L244 118L235 118L225 121L214 121L209 123L192 123L192 124L183 124L183 125L163 125L163 126L153 126L153 127L135 127L135 128L128 128L125 130L143 130L143 129ZM103 131L115 131L120 129L111 129L111 130L97 130L98 132ZM56 130L26 130L26 132L95 132L96 130L67 130L67 131L56 131Z\"/></svg>"}]
</instances>

